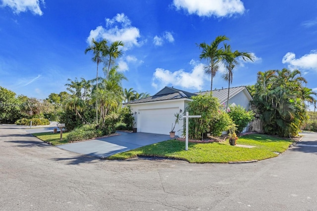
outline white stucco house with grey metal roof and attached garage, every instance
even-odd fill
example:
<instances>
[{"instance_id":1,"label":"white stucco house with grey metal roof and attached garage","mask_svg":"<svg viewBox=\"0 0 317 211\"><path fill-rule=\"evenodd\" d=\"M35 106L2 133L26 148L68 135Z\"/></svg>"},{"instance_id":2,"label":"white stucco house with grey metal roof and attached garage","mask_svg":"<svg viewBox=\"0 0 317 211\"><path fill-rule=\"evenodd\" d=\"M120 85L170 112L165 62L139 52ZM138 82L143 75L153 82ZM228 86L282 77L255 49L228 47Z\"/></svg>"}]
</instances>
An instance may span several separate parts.
<instances>
[{"instance_id":1,"label":"white stucco house with grey metal roof and attached garage","mask_svg":"<svg viewBox=\"0 0 317 211\"><path fill-rule=\"evenodd\" d=\"M137 132L169 134L172 123L175 121L175 113L183 113L192 101L191 97L197 94L210 94L210 91L191 93L173 87L165 86L153 96L133 100L124 103L130 106L135 119ZM228 89L212 91L212 96L217 97L220 103L227 102ZM249 102L252 97L245 86L230 88L229 104L236 104L249 109ZM175 127L175 135L182 134L183 122Z\"/></svg>"}]
</instances>

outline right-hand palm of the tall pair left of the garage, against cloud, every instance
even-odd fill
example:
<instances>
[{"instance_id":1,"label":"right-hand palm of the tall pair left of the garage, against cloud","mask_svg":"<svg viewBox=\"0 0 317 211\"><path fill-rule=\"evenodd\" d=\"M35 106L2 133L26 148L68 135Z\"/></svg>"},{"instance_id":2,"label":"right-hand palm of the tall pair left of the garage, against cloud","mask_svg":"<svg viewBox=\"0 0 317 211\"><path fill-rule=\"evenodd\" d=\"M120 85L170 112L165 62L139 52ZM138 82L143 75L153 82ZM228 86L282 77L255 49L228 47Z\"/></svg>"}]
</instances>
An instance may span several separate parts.
<instances>
[{"instance_id":1,"label":"right-hand palm of the tall pair left of the garage, against cloud","mask_svg":"<svg viewBox=\"0 0 317 211\"><path fill-rule=\"evenodd\" d=\"M110 44L110 46L106 46L106 50L103 52L103 56L106 59L106 64L108 66L107 69L104 69L106 80L108 79L108 74L110 71L110 65L114 65L114 60L122 55L122 50L119 50L119 46L124 46L124 43L121 41L115 41Z\"/></svg>"}]
</instances>

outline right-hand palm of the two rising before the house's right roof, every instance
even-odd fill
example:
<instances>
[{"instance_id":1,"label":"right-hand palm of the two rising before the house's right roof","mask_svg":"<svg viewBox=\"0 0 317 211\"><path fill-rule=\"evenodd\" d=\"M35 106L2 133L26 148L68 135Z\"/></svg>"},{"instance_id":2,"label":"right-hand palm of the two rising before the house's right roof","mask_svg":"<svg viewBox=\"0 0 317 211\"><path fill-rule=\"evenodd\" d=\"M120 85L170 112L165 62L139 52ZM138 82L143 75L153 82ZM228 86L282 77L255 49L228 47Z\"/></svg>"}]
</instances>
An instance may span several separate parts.
<instances>
[{"instance_id":1,"label":"right-hand palm of the two rising before the house's right roof","mask_svg":"<svg viewBox=\"0 0 317 211\"><path fill-rule=\"evenodd\" d=\"M251 61L253 61L253 55L247 52L239 52L238 50L235 50L234 52L232 52L231 46L227 45L226 43L224 44L224 51L226 54L224 55L223 59L224 59L224 65L227 72L222 78L228 82L228 96L227 96L227 104L226 104L226 111L227 111L228 104L229 104L230 84L232 84L232 80L233 80L233 68L235 68L235 66L239 64L237 59L239 57L242 57L243 60L250 59Z\"/></svg>"}]
</instances>

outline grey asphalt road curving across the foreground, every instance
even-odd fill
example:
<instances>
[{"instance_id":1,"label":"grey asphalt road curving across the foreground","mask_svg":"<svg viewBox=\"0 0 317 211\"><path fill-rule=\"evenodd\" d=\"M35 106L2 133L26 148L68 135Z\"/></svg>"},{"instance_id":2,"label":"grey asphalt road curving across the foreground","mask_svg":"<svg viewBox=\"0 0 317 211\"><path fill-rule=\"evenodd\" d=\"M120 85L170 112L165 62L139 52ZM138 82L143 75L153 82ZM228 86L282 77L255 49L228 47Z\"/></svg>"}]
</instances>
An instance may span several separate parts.
<instances>
[{"instance_id":1,"label":"grey asphalt road curving across the foreground","mask_svg":"<svg viewBox=\"0 0 317 211\"><path fill-rule=\"evenodd\" d=\"M98 160L0 126L1 211L317 210L317 134L251 164Z\"/></svg>"}]
</instances>

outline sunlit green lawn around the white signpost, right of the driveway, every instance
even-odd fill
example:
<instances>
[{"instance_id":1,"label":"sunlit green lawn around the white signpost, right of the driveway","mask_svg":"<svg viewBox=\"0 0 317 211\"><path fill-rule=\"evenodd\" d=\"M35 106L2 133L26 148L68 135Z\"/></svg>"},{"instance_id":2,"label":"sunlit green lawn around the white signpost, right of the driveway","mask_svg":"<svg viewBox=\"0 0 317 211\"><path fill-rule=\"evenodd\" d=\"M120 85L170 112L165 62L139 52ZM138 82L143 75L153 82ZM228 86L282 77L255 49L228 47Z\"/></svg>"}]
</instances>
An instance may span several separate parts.
<instances>
[{"instance_id":1,"label":"sunlit green lawn around the white signpost, right of the driveway","mask_svg":"<svg viewBox=\"0 0 317 211\"><path fill-rule=\"evenodd\" d=\"M262 134L249 134L240 137L237 143L256 147L230 146L228 141L221 143L190 142L188 151L185 151L185 142L168 140L115 154L107 159L125 160L137 156L155 156L185 160L189 163L228 163L230 161L264 160L276 157L277 155L274 152L284 152L293 141Z\"/></svg>"}]
</instances>

